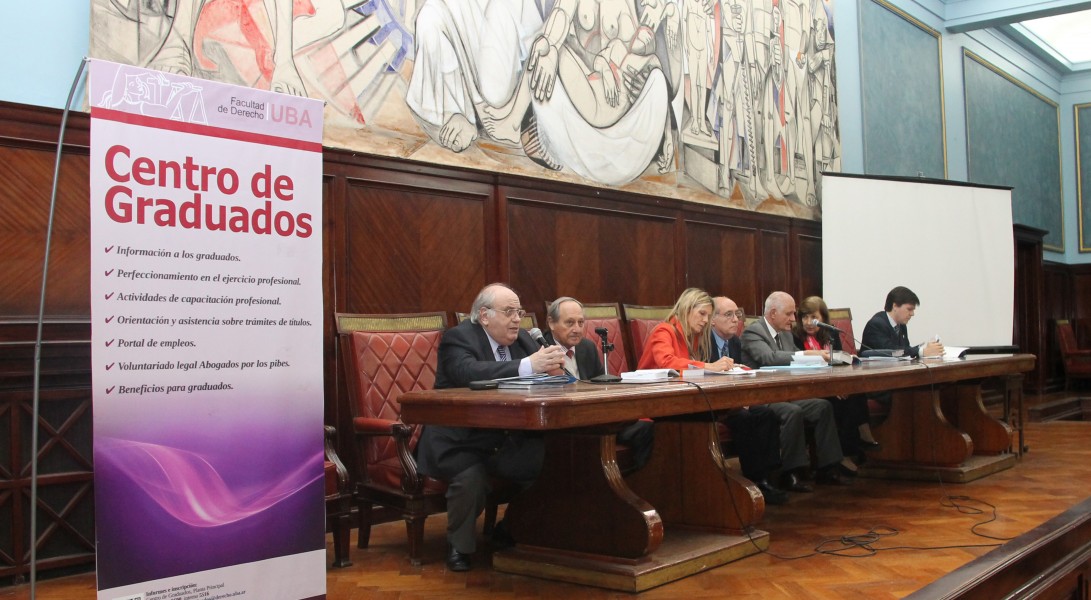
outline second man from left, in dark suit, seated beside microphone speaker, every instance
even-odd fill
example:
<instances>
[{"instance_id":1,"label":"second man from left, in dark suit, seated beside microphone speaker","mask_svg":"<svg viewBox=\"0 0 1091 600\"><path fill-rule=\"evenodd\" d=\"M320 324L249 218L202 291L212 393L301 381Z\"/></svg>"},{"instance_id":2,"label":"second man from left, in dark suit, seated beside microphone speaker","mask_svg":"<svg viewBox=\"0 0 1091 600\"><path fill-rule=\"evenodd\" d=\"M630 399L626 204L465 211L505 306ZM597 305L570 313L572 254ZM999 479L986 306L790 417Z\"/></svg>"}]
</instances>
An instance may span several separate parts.
<instances>
[{"instance_id":1,"label":"second man from left, in dark suit, seated beside microphone speaker","mask_svg":"<svg viewBox=\"0 0 1091 600\"><path fill-rule=\"evenodd\" d=\"M558 298L549 307L546 316L549 332L546 341L558 344L564 350L564 369L580 380L589 380L606 373L595 343L584 337L584 305L575 298ZM648 464L655 425L650 421L636 421L618 433L618 443L628 446L633 465L626 471L635 472Z\"/></svg>"}]
</instances>

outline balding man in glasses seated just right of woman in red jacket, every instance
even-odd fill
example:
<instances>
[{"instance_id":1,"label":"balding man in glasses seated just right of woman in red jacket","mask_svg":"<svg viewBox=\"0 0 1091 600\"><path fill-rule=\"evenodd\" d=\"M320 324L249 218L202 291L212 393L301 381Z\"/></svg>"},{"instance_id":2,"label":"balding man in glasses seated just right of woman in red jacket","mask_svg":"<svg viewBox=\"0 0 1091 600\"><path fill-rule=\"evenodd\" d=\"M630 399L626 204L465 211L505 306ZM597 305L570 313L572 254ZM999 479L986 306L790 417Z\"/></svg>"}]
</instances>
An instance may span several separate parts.
<instances>
[{"instance_id":1,"label":"balding man in glasses seated just right of woman in red jacket","mask_svg":"<svg viewBox=\"0 0 1091 600\"><path fill-rule=\"evenodd\" d=\"M739 305L730 298L712 298L712 356L710 362L727 356L742 360L739 341ZM762 491L766 504L783 504L788 494L769 482L769 471L780 468L780 420L767 406L750 406L728 412L723 422L731 431L743 476Z\"/></svg>"}]
</instances>

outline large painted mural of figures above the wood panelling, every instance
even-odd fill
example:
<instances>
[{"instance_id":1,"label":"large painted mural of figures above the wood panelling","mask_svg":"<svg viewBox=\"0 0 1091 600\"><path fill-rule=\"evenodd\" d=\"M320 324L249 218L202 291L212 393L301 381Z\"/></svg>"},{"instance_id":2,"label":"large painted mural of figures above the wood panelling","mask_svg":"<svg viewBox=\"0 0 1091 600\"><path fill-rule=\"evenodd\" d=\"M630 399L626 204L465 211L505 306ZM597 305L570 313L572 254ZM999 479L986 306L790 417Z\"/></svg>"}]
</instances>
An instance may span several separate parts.
<instances>
[{"instance_id":1,"label":"large painted mural of figures above the wood panelling","mask_svg":"<svg viewBox=\"0 0 1091 600\"><path fill-rule=\"evenodd\" d=\"M811 218L840 170L831 0L93 0L92 55L384 156Z\"/></svg>"}]
</instances>

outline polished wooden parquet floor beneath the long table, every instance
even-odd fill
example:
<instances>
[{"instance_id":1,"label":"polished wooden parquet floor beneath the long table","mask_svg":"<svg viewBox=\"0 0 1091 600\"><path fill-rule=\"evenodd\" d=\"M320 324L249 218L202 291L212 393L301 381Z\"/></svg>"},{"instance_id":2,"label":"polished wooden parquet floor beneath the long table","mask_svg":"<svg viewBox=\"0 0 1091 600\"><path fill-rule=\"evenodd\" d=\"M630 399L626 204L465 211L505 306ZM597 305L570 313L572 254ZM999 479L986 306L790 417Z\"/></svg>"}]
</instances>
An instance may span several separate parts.
<instances>
[{"instance_id":1,"label":"polished wooden parquet floor beneath the long table","mask_svg":"<svg viewBox=\"0 0 1091 600\"><path fill-rule=\"evenodd\" d=\"M1014 468L970 483L861 479L852 487L819 487L770 506L760 527L771 535L769 554L758 554L639 595L506 575L489 566L488 543L477 567L447 573L442 515L429 518L424 561L406 559L400 523L376 526L371 548L355 548L353 566L327 571L333 600L428 598L901 598L987 552L1000 540L1048 520L1091 495L1091 422L1028 423L1027 453ZM954 505L952 505L954 503ZM959 507L961 506L961 508ZM976 511L983 511L976 514ZM842 537L895 532L847 556L815 554L844 548ZM327 539L328 542L328 539ZM883 550L889 549L889 550ZM328 549L332 560L333 550ZM776 556L774 555L776 554ZM849 557L848 555L855 555ZM794 559L798 556L803 556ZM792 560L786 557L793 557ZM0 600L26 600L28 586L0 588ZM38 581L39 600L93 600L94 574ZM259 599L265 600L265 599Z\"/></svg>"}]
</instances>

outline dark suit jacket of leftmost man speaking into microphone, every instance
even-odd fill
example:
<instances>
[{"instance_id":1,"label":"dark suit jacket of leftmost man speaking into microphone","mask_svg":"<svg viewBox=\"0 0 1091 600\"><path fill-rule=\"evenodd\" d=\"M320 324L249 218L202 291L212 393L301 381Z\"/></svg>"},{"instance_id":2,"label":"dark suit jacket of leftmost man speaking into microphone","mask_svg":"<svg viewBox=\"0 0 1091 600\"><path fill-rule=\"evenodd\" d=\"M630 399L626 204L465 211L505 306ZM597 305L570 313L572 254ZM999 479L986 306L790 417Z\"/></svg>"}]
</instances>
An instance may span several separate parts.
<instances>
[{"instance_id":1,"label":"dark suit jacket of leftmost man speaking into microphone","mask_svg":"<svg viewBox=\"0 0 1091 600\"><path fill-rule=\"evenodd\" d=\"M435 388L466 387L471 381L516 376L519 361L538 351L538 344L520 329L507 350L512 360L497 361L484 328L469 320L459 323L444 332L440 340ZM506 436L504 431L494 429L427 425L417 444L417 468L429 477L449 480L494 454Z\"/></svg>"}]
</instances>

